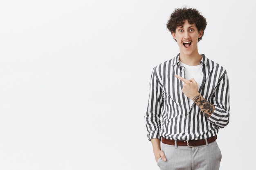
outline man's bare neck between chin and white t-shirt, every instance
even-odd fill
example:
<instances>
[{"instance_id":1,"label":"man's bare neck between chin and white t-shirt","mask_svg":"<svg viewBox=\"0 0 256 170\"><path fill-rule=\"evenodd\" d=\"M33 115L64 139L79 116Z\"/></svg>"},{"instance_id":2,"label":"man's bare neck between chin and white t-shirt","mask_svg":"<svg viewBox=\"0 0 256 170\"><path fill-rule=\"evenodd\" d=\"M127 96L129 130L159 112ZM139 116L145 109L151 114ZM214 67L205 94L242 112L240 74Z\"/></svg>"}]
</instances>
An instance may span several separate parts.
<instances>
[{"instance_id":1,"label":"man's bare neck between chin and white t-shirt","mask_svg":"<svg viewBox=\"0 0 256 170\"><path fill-rule=\"evenodd\" d=\"M202 60L202 55L200 55L199 53L196 53L194 55L184 55L180 53L179 60L186 65L197 66L200 64L200 61Z\"/></svg>"}]
</instances>

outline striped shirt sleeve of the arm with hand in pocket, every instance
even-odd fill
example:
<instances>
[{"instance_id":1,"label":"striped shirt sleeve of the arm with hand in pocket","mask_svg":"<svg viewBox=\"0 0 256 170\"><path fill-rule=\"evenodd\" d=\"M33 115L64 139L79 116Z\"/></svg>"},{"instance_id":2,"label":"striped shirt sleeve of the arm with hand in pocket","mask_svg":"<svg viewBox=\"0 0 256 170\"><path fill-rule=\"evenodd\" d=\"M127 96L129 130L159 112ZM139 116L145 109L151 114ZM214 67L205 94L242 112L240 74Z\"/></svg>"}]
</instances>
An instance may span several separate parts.
<instances>
[{"instance_id":1,"label":"striped shirt sleeve of the arm with hand in pocket","mask_svg":"<svg viewBox=\"0 0 256 170\"><path fill-rule=\"evenodd\" d=\"M152 138L160 139L161 129L161 107L162 107L162 87L159 84L155 68L151 73L148 95L148 107L145 115L148 140Z\"/></svg>"}]
</instances>

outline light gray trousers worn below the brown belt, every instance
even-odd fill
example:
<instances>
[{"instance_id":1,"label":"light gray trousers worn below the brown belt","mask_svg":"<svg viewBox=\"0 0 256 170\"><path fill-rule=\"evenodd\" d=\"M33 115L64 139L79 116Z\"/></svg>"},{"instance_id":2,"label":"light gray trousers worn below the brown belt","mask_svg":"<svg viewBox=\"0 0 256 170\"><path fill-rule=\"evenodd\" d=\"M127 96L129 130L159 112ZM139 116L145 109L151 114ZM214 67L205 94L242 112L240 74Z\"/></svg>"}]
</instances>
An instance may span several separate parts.
<instances>
[{"instance_id":1,"label":"light gray trousers worn below the brown belt","mask_svg":"<svg viewBox=\"0 0 256 170\"><path fill-rule=\"evenodd\" d=\"M160 157L157 166L160 170L219 170L220 148L216 141L202 146L173 146L162 144L167 161Z\"/></svg>"}]
</instances>

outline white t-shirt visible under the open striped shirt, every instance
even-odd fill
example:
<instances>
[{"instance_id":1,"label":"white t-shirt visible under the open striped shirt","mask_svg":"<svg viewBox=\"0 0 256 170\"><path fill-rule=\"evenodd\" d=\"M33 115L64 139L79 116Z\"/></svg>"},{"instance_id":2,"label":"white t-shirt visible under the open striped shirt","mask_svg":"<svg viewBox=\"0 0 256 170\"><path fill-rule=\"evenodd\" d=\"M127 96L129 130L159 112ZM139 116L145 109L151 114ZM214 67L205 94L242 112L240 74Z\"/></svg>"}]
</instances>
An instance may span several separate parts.
<instances>
[{"instance_id":1,"label":"white t-shirt visible under the open striped shirt","mask_svg":"<svg viewBox=\"0 0 256 170\"><path fill-rule=\"evenodd\" d=\"M202 73L202 67L200 65L197 66L189 66L184 64L183 62L180 62L180 66L184 67L184 71L185 71L185 79L189 80L191 78L194 78L195 81L198 83L198 90L202 84L202 79L203 79L203 73ZM190 107L193 104L193 100L189 99L189 105Z\"/></svg>"}]
</instances>

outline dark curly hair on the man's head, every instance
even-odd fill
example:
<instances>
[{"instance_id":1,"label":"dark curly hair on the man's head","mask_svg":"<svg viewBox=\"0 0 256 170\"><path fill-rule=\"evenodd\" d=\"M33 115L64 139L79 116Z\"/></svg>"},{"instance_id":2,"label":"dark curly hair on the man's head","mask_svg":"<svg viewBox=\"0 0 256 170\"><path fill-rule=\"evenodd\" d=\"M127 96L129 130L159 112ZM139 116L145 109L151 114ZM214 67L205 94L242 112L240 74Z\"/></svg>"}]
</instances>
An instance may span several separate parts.
<instances>
[{"instance_id":1,"label":"dark curly hair on the man's head","mask_svg":"<svg viewBox=\"0 0 256 170\"><path fill-rule=\"evenodd\" d=\"M207 25L206 19L197 9L193 8L187 9L186 7L184 7L175 9L166 24L167 29L170 32L175 33L176 28L178 26L183 26L185 20L188 20L189 24L195 23L198 31L203 30L202 36L204 35L204 29ZM198 42L202 40L202 36L198 38Z\"/></svg>"}]
</instances>

